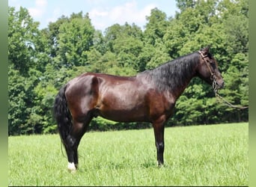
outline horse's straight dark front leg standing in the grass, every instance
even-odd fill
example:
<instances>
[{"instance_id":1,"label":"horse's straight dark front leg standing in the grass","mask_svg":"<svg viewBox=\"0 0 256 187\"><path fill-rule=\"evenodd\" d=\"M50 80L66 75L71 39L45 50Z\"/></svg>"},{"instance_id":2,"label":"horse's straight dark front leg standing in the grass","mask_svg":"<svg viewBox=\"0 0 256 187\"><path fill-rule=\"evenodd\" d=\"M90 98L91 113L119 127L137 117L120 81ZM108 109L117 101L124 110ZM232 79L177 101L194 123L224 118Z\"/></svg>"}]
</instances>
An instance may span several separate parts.
<instances>
[{"instance_id":1,"label":"horse's straight dark front leg standing in the grass","mask_svg":"<svg viewBox=\"0 0 256 187\"><path fill-rule=\"evenodd\" d=\"M164 141L164 132L165 126L164 123L153 123L153 132L155 134L156 141L156 151L157 151L157 162L161 166L164 163L163 153L165 150L165 141Z\"/></svg>"}]
</instances>

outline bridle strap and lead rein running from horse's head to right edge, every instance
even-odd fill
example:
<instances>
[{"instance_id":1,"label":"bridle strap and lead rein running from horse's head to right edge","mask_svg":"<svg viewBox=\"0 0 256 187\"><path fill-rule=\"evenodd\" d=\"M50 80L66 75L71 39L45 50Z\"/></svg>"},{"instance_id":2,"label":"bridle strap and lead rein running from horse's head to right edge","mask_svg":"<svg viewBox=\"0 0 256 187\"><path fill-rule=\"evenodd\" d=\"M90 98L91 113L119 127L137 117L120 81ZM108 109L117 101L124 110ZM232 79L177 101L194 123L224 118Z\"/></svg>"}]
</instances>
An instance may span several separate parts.
<instances>
[{"instance_id":1,"label":"bridle strap and lead rein running from horse's head to right edge","mask_svg":"<svg viewBox=\"0 0 256 187\"><path fill-rule=\"evenodd\" d=\"M228 105L229 107L231 108L239 108L241 110L243 109L246 109L246 108L249 108L249 106L243 106L243 105L233 105L231 104L231 102L228 102L228 100L224 99L222 96L219 95L218 93L218 85L217 85L217 82L216 82L216 77L215 77L215 74L213 73L213 71L211 70L210 68L210 64L208 64L207 60L205 60L204 58L207 57L207 55L204 55L203 52L201 51L198 51L199 54L201 55L201 57L203 58L205 64L207 64L207 68L210 72L210 79L213 80L213 91L215 93L215 96L216 96L216 99L219 98L219 100L224 104L224 105Z\"/></svg>"}]
</instances>

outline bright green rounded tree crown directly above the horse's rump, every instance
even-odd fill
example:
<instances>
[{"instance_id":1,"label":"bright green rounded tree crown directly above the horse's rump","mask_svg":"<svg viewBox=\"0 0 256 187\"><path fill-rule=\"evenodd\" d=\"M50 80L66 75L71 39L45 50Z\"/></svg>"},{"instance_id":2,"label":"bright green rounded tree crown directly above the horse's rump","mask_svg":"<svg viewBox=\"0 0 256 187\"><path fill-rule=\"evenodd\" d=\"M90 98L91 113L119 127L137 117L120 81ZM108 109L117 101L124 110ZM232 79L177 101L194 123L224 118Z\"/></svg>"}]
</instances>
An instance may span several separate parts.
<instances>
[{"instance_id":1,"label":"bright green rounded tree crown directly above the horse's rump","mask_svg":"<svg viewBox=\"0 0 256 187\"><path fill-rule=\"evenodd\" d=\"M94 28L88 14L70 16L70 21L60 26L58 36L58 63L67 68L85 65L85 52L93 45L94 37Z\"/></svg>"}]
</instances>

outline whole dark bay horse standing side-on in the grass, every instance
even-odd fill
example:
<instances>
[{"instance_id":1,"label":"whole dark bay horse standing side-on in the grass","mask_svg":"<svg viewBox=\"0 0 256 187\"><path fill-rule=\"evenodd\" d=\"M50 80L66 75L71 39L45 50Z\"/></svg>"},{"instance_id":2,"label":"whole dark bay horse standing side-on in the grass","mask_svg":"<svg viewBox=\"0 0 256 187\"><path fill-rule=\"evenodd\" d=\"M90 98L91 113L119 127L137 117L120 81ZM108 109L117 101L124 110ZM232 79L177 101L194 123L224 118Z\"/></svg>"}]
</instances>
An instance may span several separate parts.
<instances>
[{"instance_id":1,"label":"whole dark bay horse standing side-on in the grass","mask_svg":"<svg viewBox=\"0 0 256 187\"><path fill-rule=\"evenodd\" d=\"M119 122L150 122L162 165L165 121L190 80L198 76L214 89L224 81L209 47L168 61L136 76L84 73L67 82L55 98L54 114L70 171L78 166L77 149L90 121L97 116Z\"/></svg>"}]
</instances>

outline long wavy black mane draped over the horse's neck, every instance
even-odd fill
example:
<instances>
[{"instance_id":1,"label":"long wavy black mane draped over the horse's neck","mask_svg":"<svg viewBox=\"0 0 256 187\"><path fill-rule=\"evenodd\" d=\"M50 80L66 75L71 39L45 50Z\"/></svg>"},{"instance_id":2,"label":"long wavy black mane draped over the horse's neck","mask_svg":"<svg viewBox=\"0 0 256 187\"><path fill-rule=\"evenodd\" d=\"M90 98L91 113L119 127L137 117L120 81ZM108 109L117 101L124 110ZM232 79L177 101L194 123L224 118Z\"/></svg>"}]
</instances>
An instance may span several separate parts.
<instances>
[{"instance_id":1,"label":"long wavy black mane draped over the horse's neck","mask_svg":"<svg viewBox=\"0 0 256 187\"><path fill-rule=\"evenodd\" d=\"M141 76L146 76L146 79L152 82L159 91L173 90L192 79L198 62L199 54L198 52L193 52L140 74Z\"/></svg>"}]
</instances>

